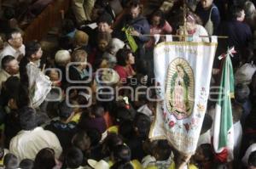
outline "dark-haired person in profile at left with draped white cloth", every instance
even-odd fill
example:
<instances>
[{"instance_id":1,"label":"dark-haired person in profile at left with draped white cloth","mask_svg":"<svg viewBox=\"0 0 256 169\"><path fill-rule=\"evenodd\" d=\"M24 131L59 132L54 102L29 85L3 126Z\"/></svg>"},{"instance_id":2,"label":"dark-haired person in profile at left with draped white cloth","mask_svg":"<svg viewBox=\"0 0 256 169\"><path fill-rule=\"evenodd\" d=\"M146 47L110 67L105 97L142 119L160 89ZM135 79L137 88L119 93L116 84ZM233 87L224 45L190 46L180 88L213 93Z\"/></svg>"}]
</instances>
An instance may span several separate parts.
<instances>
[{"instance_id":1,"label":"dark-haired person in profile at left with draped white cloth","mask_svg":"<svg viewBox=\"0 0 256 169\"><path fill-rule=\"evenodd\" d=\"M48 76L39 69L43 51L39 42L26 44L26 55L20 60L20 83L28 89L30 104L37 108L51 89Z\"/></svg>"}]
</instances>

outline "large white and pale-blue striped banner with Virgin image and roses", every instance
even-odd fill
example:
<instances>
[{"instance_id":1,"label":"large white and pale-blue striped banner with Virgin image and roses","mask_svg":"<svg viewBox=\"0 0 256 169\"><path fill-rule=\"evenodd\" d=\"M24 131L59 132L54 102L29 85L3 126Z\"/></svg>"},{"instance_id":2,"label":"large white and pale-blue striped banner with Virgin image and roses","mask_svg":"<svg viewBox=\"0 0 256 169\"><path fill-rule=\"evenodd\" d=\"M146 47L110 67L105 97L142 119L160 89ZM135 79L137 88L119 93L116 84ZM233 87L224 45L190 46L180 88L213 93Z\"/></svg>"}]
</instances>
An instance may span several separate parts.
<instances>
[{"instance_id":1,"label":"large white and pale-blue striped banner with Virgin image and roses","mask_svg":"<svg viewBox=\"0 0 256 169\"><path fill-rule=\"evenodd\" d=\"M212 42L161 42L154 48L154 76L160 101L149 138L167 139L183 155L195 153L207 110Z\"/></svg>"}]
</instances>

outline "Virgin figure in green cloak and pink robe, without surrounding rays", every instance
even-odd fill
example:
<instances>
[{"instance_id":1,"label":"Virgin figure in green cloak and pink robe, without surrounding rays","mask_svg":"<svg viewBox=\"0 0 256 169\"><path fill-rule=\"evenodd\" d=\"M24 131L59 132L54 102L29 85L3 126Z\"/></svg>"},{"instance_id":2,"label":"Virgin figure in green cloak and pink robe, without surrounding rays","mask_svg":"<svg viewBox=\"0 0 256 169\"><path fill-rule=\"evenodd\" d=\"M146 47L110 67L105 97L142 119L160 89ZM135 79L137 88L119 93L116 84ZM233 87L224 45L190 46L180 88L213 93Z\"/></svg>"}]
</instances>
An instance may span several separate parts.
<instances>
[{"instance_id":1,"label":"Virgin figure in green cloak and pink robe, without surrounding rays","mask_svg":"<svg viewBox=\"0 0 256 169\"><path fill-rule=\"evenodd\" d=\"M189 75L183 65L176 65L176 72L171 80L170 96L171 112L178 116L187 116L191 109L189 105Z\"/></svg>"}]
</instances>

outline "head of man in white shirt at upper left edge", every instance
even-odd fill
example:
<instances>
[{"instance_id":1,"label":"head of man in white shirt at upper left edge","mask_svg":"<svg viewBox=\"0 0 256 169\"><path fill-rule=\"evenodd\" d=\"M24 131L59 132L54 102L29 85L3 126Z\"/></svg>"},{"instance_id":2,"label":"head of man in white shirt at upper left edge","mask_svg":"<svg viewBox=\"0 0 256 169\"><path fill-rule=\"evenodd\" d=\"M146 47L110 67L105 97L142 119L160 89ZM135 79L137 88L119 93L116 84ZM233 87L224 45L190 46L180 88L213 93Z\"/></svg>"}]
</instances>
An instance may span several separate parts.
<instances>
[{"instance_id":1,"label":"head of man in white shirt at upper left edge","mask_svg":"<svg viewBox=\"0 0 256 169\"><path fill-rule=\"evenodd\" d=\"M6 35L6 39L13 48L20 48L23 44L21 32L17 29L10 30Z\"/></svg>"}]
</instances>

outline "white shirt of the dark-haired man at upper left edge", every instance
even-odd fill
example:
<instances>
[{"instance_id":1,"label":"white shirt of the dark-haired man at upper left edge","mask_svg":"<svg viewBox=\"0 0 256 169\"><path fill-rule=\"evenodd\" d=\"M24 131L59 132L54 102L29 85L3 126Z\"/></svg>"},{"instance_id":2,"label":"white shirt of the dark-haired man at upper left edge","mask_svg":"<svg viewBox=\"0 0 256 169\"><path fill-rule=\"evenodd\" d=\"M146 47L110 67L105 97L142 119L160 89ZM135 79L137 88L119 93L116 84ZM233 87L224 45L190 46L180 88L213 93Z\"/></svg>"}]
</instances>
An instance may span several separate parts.
<instances>
[{"instance_id":1,"label":"white shirt of the dark-haired man at upper left edge","mask_svg":"<svg viewBox=\"0 0 256 169\"><path fill-rule=\"evenodd\" d=\"M0 67L2 65L1 63L4 56L11 55L14 56L15 59L17 59L20 54L23 54L25 56L25 46L23 44L18 50L7 44L6 47L3 48L3 51L0 53Z\"/></svg>"}]
</instances>

